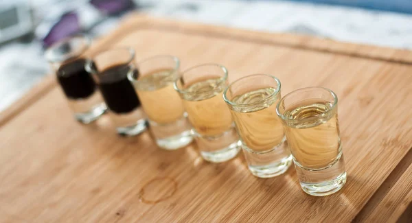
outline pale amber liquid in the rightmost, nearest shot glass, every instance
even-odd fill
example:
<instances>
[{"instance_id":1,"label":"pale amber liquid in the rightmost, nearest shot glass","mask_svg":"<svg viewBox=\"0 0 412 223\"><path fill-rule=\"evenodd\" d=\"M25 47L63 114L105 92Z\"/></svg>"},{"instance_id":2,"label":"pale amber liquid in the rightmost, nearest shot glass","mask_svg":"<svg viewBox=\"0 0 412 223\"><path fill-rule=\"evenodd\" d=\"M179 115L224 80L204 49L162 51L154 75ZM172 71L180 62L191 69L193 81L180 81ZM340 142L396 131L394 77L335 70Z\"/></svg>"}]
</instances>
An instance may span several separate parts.
<instances>
[{"instance_id":1,"label":"pale amber liquid in the rightmost, nearest shot glass","mask_svg":"<svg viewBox=\"0 0 412 223\"><path fill-rule=\"evenodd\" d=\"M285 128L290 150L305 168L328 167L340 152L338 115L330 108L329 102L306 102L284 114L290 119Z\"/></svg>"}]
</instances>

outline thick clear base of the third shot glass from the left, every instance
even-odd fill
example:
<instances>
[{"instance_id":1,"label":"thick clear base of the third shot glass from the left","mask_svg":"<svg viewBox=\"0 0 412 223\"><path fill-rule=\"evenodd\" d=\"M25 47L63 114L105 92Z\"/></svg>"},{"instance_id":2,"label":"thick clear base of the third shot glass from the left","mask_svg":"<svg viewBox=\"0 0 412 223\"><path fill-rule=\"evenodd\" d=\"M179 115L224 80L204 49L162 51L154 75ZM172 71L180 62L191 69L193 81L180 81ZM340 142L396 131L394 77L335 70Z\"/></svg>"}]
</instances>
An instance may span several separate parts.
<instances>
[{"instance_id":1,"label":"thick clear base of the third shot glass from the left","mask_svg":"<svg viewBox=\"0 0 412 223\"><path fill-rule=\"evenodd\" d=\"M185 147L186 145L189 145L190 143L192 143L192 141L193 137L190 130L181 132L181 134L176 134L172 137L156 139L156 143L159 148L162 148L164 150L177 150Z\"/></svg>"}]
</instances>

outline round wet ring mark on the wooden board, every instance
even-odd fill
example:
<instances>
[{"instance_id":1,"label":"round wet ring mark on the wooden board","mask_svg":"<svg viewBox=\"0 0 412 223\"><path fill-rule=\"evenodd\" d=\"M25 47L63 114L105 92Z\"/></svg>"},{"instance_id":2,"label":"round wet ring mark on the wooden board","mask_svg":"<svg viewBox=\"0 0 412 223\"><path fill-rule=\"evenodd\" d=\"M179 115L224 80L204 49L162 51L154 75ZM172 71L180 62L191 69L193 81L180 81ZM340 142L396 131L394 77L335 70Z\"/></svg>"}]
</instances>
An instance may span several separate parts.
<instances>
[{"instance_id":1,"label":"round wet ring mark on the wooden board","mask_svg":"<svg viewBox=\"0 0 412 223\"><path fill-rule=\"evenodd\" d=\"M155 178L140 189L138 196L141 202L157 204L173 196L176 190L177 183L174 179L168 177Z\"/></svg>"}]
</instances>

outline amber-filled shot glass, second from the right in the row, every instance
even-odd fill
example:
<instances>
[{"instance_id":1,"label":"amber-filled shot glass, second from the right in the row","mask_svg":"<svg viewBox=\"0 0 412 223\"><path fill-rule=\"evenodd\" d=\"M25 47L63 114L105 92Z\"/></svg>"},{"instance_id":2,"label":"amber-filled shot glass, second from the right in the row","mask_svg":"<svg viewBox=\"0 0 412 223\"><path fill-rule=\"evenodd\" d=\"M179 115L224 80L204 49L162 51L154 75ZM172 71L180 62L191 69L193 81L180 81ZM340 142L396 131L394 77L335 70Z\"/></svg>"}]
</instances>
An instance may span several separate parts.
<instances>
[{"instance_id":1,"label":"amber-filled shot glass, second from the right in the row","mask_svg":"<svg viewBox=\"0 0 412 223\"><path fill-rule=\"evenodd\" d=\"M266 74L248 75L230 84L223 97L231 110L251 173L270 178L286 172L292 155L282 121L276 115L279 80Z\"/></svg>"}]
</instances>

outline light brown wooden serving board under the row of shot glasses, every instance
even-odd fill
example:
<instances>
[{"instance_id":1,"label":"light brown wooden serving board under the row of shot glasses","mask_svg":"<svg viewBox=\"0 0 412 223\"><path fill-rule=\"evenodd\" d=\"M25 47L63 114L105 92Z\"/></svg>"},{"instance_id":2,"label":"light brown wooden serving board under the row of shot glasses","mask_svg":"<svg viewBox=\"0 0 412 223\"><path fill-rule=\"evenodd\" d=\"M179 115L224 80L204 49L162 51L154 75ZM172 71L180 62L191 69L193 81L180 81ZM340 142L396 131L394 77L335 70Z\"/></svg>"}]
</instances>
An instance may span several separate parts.
<instances>
[{"instance_id":1,"label":"light brown wooden serving board under the row of shot glasses","mask_svg":"<svg viewBox=\"0 0 412 223\"><path fill-rule=\"evenodd\" d=\"M229 81L268 73L282 94L324 86L339 97L347 184L306 195L292 167L252 176L240 154L203 161L196 145L160 150L145 132L84 126L49 77L0 117L0 222L395 222L412 215L412 52L132 15L89 52L131 46L182 69L224 64ZM151 182L154 179L155 182ZM151 183L150 183L151 182ZM149 183L149 185L148 185ZM141 202L165 198L161 202Z\"/></svg>"}]
</instances>

